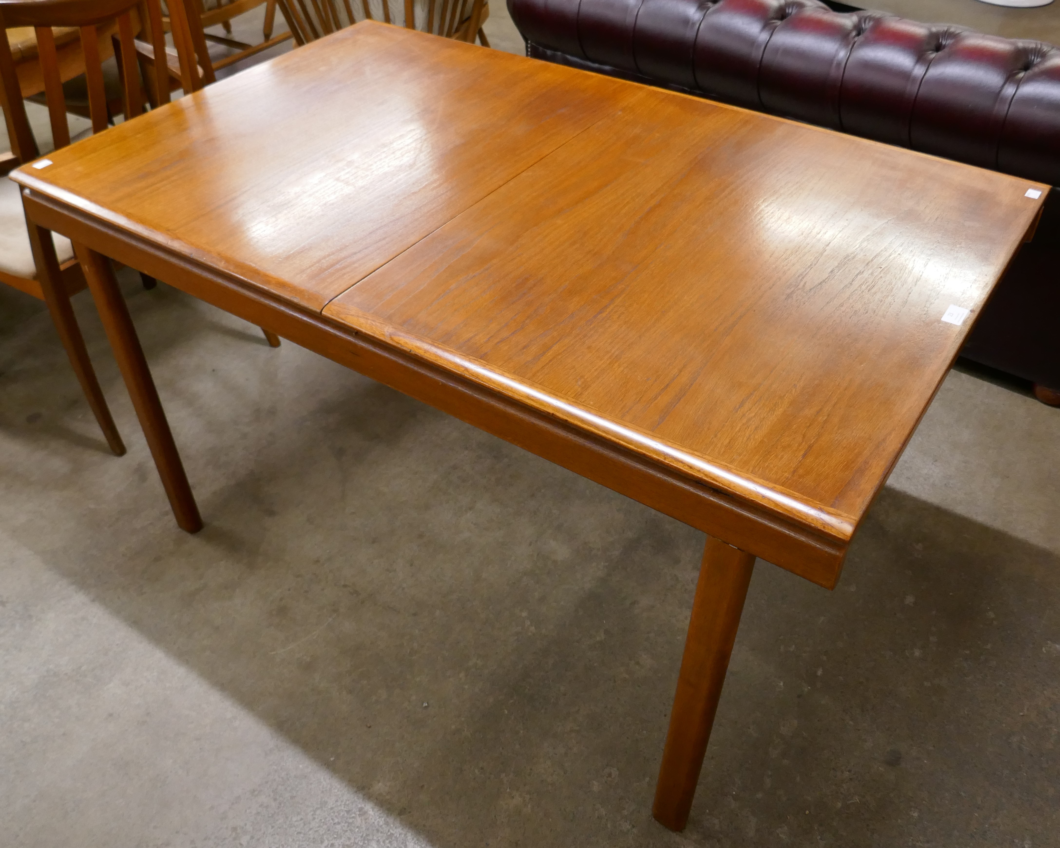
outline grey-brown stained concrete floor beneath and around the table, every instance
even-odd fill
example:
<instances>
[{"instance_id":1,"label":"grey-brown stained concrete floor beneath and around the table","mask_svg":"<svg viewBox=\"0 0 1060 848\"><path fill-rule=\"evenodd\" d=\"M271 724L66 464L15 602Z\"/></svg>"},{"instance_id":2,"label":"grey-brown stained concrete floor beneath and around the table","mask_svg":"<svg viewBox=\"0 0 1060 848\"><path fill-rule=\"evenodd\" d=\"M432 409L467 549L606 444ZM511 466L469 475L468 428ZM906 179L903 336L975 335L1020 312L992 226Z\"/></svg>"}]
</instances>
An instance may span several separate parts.
<instances>
[{"instance_id":1,"label":"grey-brown stained concrete floor beneath and around the table","mask_svg":"<svg viewBox=\"0 0 1060 848\"><path fill-rule=\"evenodd\" d=\"M1060 410L952 373L834 593L758 564L675 835L702 534L124 285L207 527L0 287L0 845L1060 846Z\"/></svg>"}]
</instances>

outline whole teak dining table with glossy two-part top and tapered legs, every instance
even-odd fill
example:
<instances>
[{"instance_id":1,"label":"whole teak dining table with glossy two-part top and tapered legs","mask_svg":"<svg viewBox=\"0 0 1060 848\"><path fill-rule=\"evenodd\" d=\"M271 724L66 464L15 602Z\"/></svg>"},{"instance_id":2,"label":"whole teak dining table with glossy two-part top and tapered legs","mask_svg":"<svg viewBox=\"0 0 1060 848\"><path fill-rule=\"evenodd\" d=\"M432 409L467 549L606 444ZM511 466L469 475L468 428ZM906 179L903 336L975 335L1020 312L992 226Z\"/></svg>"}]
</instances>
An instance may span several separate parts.
<instances>
[{"instance_id":1,"label":"whole teak dining table with glossy two-part top and tapered legs","mask_svg":"<svg viewBox=\"0 0 1060 848\"><path fill-rule=\"evenodd\" d=\"M110 259L705 531L675 830L755 559L835 585L1047 192L379 23L13 176L76 245L184 530Z\"/></svg>"}]
</instances>

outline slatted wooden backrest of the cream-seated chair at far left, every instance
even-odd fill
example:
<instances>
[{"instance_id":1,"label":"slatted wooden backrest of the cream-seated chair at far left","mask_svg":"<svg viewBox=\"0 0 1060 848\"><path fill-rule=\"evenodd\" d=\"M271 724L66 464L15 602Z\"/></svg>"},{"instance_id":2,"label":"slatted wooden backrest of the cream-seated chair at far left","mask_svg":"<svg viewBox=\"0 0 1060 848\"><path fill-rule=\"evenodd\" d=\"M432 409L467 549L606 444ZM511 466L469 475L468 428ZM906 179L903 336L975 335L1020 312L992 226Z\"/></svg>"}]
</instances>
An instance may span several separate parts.
<instances>
[{"instance_id":1,"label":"slatted wooden backrest of the cream-seated chair at far left","mask_svg":"<svg viewBox=\"0 0 1060 848\"><path fill-rule=\"evenodd\" d=\"M187 30L189 22L183 3L175 2L173 6L180 7L179 16ZM169 103L171 74L182 80L186 90L202 87L190 35L175 33L177 63L171 60L172 51L165 48L159 0L0 0L0 28L6 31L14 26L34 28L37 60L56 148L70 143L70 128L52 28L76 28L80 31L93 132L106 129L110 118L103 82L103 59L111 52L108 38L113 42L122 85L122 110L126 119L143 111L145 99L156 104ZM140 32L147 36L149 43L137 41L136 36ZM141 83L141 60L153 69L148 75L152 83L149 93L145 92ZM172 67L175 64L179 64L179 69ZM148 95L145 98L145 94ZM0 37L0 95L12 152L20 162L36 159L40 152L30 128L15 59L6 37Z\"/></svg>"}]
</instances>

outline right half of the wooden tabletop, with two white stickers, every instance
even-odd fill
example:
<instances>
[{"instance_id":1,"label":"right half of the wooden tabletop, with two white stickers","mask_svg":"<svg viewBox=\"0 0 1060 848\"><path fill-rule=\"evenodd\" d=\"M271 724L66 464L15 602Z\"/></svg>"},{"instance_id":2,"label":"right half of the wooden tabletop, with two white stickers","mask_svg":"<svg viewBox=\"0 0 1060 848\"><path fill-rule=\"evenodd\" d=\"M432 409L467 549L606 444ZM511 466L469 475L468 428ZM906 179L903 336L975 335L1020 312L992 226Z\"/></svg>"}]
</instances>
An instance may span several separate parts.
<instances>
[{"instance_id":1,"label":"right half of the wooden tabletop, with two white stickers","mask_svg":"<svg viewBox=\"0 0 1060 848\"><path fill-rule=\"evenodd\" d=\"M641 89L324 315L849 540L1028 189Z\"/></svg>"}]
</instances>

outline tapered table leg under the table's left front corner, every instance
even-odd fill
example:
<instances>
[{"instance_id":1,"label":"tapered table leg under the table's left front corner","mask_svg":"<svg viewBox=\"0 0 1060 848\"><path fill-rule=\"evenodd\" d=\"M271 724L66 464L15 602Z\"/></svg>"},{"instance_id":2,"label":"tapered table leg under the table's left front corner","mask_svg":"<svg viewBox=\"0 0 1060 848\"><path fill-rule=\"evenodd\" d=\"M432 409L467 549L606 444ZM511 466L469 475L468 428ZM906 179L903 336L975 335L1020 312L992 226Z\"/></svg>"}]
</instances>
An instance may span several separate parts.
<instances>
[{"instance_id":1,"label":"tapered table leg under the table's left front corner","mask_svg":"<svg viewBox=\"0 0 1060 848\"><path fill-rule=\"evenodd\" d=\"M136 328L129 317L125 299L118 288L118 280L114 279L110 260L84 245L74 244L74 252L95 299L103 329L107 331L107 338L110 339L118 367L125 378L125 386L132 399L137 418L140 419L147 446L151 447L152 456L155 458L155 465L159 477L162 478L170 506L173 507L173 514L182 530L195 533L202 529L202 519L195 505L195 496L188 484L184 466L180 462L180 454L177 453L177 446L173 441L162 403L158 400L155 381L147 368Z\"/></svg>"}]
</instances>

